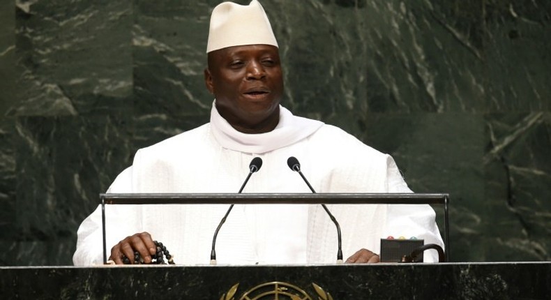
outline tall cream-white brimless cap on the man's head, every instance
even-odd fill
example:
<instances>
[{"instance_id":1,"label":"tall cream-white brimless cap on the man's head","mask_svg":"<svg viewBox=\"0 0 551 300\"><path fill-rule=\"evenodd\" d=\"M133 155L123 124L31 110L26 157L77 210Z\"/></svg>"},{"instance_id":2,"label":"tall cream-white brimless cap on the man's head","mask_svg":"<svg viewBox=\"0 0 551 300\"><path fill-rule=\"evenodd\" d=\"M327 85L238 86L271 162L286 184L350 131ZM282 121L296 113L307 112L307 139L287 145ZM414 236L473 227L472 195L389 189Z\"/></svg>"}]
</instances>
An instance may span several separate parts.
<instances>
[{"instance_id":1,"label":"tall cream-white brimless cap on the man's head","mask_svg":"<svg viewBox=\"0 0 551 300\"><path fill-rule=\"evenodd\" d=\"M225 47L259 44L278 47L268 16L257 0L250 1L248 6L224 2L214 8L206 53Z\"/></svg>"}]
</instances>

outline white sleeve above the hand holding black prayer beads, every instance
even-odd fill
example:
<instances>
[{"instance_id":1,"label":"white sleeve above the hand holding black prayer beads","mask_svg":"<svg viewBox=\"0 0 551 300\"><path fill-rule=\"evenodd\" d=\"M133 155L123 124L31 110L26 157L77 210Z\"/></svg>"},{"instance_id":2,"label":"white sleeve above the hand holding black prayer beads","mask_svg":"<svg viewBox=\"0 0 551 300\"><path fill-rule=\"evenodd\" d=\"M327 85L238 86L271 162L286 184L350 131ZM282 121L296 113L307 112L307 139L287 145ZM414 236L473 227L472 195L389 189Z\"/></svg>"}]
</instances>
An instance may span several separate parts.
<instances>
[{"instance_id":1,"label":"white sleeve above the hand holding black prayer beads","mask_svg":"<svg viewBox=\"0 0 551 300\"><path fill-rule=\"evenodd\" d=\"M131 193L131 184L132 167L128 167L116 177L107 193ZM136 233L135 230L139 228L139 218L132 216L138 216L139 213L139 206L135 205L105 206L107 258L110 256L112 246L128 235ZM73 264L75 266L103 264L101 205L80 224Z\"/></svg>"}]
</instances>

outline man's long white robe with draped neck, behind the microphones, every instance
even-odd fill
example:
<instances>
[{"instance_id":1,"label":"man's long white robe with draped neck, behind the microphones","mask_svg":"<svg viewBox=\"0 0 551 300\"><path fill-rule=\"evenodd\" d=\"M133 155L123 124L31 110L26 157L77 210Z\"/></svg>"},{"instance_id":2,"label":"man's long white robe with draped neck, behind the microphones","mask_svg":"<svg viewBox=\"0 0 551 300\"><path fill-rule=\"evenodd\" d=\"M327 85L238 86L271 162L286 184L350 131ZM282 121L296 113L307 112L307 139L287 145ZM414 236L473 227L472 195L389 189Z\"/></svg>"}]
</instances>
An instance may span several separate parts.
<instances>
[{"instance_id":1,"label":"man's long white robe with draped neck, behind the microphones","mask_svg":"<svg viewBox=\"0 0 551 300\"><path fill-rule=\"evenodd\" d=\"M335 126L295 117L280 107L270 133L239 133L213 105L211 122L137 151L108 193L236 193L250 160L263 165L243 193L310 193L287 166L295 156L317 193L411 193L393 158ZM149 232L177 264L208 264L213 232L228 205L108 205L107 253L121 239ZM428 205L328 205L342 230L346 259L361 248L379 253L389 235L444 246ZM335 225L319 205L236 205L216 242L218 264L334 263ZM108 254L109 255L109 254ZM437 254L425 252L425 262ZM78 230L75 265L103 262L101 211Z\"/></svg>"}]
</instances>

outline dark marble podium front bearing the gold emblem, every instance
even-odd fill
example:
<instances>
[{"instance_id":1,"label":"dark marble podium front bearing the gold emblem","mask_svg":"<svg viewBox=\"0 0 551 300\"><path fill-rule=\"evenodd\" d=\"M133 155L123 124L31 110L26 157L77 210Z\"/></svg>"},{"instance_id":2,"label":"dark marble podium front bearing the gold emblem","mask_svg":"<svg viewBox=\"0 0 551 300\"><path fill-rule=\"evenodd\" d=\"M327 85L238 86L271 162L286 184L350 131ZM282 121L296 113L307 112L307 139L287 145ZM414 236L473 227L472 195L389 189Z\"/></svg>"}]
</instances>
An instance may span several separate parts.
<instances>
[{"instance_id":1,"label":"dark marble podium front bearing the gold emblem","mask_svg":"<svg viewBox=\"0 0 551 300\"><path fill-rule=\"evenodd\" d=\"M550 282L550 262L0 267L2 299L549 299Z\"/></svg>"}]
</instances>

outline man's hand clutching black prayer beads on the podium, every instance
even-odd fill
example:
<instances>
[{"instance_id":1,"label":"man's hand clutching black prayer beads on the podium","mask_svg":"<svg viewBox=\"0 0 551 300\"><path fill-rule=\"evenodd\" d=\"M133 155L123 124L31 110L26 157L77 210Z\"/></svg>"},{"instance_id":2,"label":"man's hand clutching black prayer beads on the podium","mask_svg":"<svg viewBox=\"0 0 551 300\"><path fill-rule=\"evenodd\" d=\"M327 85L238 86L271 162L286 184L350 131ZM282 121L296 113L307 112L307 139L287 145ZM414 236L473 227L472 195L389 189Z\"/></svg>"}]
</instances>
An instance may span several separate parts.
<instances>
[{"instance_id":1,"label":"man's hand clutching black prayer beads on the podium","mask_svg":"<svg viewBox=\"0 0 551 300\"><path fill-rule=\"evenodd\" d=\"M151 255L156 253L156 246L148 232L137 233L119 241L111 248L110 260L115 264L123 264L122 257L126 255L130 264L134 264L134 252L137 251L146 264L151 262Z\"/></svg>"}]
</instances>

